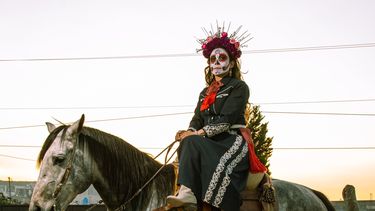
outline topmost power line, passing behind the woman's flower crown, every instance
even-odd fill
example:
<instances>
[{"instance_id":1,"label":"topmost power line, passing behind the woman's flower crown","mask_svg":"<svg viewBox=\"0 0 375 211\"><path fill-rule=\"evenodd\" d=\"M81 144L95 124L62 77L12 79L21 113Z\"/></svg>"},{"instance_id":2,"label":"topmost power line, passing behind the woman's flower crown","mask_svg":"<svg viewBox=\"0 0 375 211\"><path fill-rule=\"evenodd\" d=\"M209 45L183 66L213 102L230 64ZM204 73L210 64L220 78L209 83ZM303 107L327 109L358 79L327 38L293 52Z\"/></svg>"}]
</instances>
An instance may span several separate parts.
<instances>
[{"instance_id":1,"label":"topmost power line, passing behind the woman's flower crown","mask_svg":"<svg viewBox=\"0 0 375 211\"><path fill-rule=\"evenodd\" d=\"M297 52L297 51L336 50L336 49L369 48L369 47L375 47L375 43L356 43L356 44L343 44L343 45L309 46L309 47L298 47L298 48L260 49L260 50L242 51L242 54L284 53L284 52ZM179 53L179 54L153 54L153 55L129 55L129 56L0 59L0 62L148 59L148 58L169 58L169 57L193 57L193 56L200 56L200 54L197 54L197 53Z\"/></svg>"}]
</instances>

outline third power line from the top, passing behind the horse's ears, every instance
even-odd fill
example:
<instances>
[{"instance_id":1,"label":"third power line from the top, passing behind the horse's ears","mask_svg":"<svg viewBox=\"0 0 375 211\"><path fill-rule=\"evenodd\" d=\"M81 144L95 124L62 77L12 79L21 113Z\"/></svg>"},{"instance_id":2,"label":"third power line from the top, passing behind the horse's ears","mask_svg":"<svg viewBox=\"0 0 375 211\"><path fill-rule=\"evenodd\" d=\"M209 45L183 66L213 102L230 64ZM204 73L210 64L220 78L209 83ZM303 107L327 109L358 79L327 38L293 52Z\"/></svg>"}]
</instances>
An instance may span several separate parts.
<instances>
[{"instance_id":1,"label":"third power line from the top, passing behind the horse's ears","mask_svg":"<svg viewBox=\"0 0 375 211\"><path fill-rule=\"evenodd\" d=\"M193 112L180 112L180 113L169 113L169 114L155 114L155 115L145 115L145 116L134 116L134 117L121 117L121 118L110 118L110 119L100 119L91 120L86 122L109 122L109 121L120 121L127 119L143 119L143 118L154 118L154 117L164 117L164 116L176 116L192 114ZM375 116L372 113L328 113L328 112L295 112L295 111L262 111L266 114L292 114L292 115L330 115L330 116ZM22 126L10 126L10 127L0 127L0 130L10 130L10 129L22 129L22 128L33 128L33 127L44 127L45 125L22 125Z\"/></svg>"}]
</instances>

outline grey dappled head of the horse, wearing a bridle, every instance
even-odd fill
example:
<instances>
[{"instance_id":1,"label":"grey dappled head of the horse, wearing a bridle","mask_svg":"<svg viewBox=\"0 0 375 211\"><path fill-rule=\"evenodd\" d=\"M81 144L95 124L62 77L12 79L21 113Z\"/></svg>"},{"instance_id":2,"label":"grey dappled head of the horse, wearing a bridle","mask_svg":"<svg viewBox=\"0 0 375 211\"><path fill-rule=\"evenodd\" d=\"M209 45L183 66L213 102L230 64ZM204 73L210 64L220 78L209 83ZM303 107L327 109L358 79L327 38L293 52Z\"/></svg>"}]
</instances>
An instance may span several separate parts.
<instances>
[{"instance_id":1,"label":"grey dappled head of the horse, wearing a bridle","mask_svg":"<svg viewBox=\"0 0 375 211\"><path fill-rule=\"evenodd\" d=\"M29 211L65 210L69 203L91 184L90 162L79 149L84 115L70 126L55 127L39 154L40 172Z\"/></svg>"}]
</instances>

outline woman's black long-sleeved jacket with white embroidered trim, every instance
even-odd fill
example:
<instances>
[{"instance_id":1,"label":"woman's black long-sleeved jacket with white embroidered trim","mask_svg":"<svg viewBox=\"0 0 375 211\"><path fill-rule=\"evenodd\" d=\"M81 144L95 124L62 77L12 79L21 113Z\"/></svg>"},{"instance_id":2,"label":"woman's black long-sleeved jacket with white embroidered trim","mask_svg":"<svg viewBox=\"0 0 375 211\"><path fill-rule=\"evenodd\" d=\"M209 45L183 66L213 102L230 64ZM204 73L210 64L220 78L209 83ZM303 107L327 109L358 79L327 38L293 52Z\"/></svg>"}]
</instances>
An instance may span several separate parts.
<instances>
[{"instance_id":1,"label":"woman's black long-sleeved jacket with white embroidered trim","mask_svg":"<svg viewBox=\"0 0 375 211\"><path fill-rule=\"evenodd\" d=\"M223 78L221 82L223 86L217 92L215 102L204 111L200 111L200 107L206 97L207 87L202 90L189 130L203 128L206 135L212 137L246 125L245 108L249 100L249 87L244 81L230 77Z\"/></svg>"}]
</instances>

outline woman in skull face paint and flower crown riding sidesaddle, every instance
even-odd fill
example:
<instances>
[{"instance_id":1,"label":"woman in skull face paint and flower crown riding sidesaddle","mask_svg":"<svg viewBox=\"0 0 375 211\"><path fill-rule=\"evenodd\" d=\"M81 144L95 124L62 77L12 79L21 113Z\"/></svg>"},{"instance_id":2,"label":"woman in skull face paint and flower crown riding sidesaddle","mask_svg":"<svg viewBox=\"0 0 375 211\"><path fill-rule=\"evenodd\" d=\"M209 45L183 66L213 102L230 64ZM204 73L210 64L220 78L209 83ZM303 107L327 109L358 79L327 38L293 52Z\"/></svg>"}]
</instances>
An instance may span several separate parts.
<instances>
[{"instance_id":1,"label":"woman in skull face paint and flower crown riding sidesaddle","mask_svg":"<svg viewBox=\"0 0 375 211\"><path fill-rule=\"evenodd\" d=\"M223 210L240 209L240 192L246 187L252 164L249 146L240 131L246 125L249 88L242 80L238 61L240 42L246 38L237 36L239 29L228 36L217 27L217 32L207 33L208 37L200 40L208 59L208 87L199 95L189 129L176 134L176 139L181 140L180 190L177 196L167 197L172 207L196 209L199 200ZM266 171L259 160L255 161L258 172Z\"/></svg>"}]
</instances>

